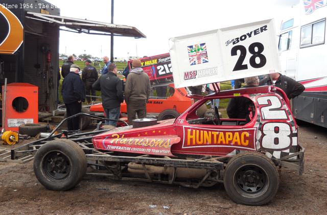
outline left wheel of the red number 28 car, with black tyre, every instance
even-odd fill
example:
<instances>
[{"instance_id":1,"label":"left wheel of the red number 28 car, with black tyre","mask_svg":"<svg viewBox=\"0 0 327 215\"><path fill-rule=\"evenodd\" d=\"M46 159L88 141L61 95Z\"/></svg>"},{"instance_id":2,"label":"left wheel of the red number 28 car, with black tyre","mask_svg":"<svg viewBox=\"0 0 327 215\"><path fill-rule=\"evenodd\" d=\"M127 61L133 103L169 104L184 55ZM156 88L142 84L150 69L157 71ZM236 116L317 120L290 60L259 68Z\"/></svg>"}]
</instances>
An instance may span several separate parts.
<instances>
[{"instance_id":1,"label":"left wheel of the red number 28 car, with black tyre","mask_svg":"<svg viewBox=\"0 0 327 215\"><path fill-rule=\"evenodd\" d=\"M76 142L55 139L36 152L33 169L37 180L47 189L64 191L75 187L84 177L87 161Z\"/></svg>"}]
</instances>

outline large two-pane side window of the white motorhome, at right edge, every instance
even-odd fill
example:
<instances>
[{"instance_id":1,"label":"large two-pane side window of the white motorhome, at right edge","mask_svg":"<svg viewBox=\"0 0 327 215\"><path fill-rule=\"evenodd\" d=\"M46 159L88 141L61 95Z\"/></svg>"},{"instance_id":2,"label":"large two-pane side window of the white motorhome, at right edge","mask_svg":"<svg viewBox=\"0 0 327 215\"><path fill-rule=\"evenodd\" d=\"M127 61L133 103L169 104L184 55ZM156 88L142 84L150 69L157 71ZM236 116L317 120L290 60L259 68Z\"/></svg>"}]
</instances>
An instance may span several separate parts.
<instances>
[{"instance_id":1,"label":"large two-pane side window of the white motorhome, at right edge","mask_svg":"<svg viewBox=\"0 0 327 215\"><path fill-rule=\"evenodd\" d=\"M325 38L325 20L301 28L300 47L323 44Z\"/></svg>"}]
</instances>

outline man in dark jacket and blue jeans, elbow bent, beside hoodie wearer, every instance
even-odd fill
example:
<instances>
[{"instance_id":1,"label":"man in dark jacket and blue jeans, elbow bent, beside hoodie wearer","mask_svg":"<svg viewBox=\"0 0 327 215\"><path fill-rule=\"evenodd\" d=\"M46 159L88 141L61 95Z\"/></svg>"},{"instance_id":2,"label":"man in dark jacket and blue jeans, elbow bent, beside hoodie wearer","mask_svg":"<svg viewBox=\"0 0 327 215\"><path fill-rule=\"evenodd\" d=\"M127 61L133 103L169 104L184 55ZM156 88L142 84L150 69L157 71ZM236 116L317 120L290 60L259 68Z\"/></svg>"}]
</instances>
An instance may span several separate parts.
<instances>
[{"instance_id":1,"label":"man in dark jacket and blue jeans, elbow bent, beside hoodie wearer","mask_svg":"<svg viewBox=\"0 0 327 215\"><path fill-rule=\"evenodd\" d=\"M106 125L117 126L121 112L121 103L124 102L123 81L117 77L116 64L111 63L108 66L108 73L92 85L95 90L101 90L102 106L106 113Z\"/></svg>"}]
</instances>

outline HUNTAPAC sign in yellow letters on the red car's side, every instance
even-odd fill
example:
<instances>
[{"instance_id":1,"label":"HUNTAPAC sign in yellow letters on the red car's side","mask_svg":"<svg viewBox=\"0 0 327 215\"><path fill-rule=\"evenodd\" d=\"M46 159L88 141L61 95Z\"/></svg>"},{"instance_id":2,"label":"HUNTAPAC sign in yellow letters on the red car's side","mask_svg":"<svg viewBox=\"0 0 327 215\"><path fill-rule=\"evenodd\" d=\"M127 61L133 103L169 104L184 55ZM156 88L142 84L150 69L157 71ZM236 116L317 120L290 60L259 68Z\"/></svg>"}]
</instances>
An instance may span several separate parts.
<instances>
[{"instance_id":1,"label":"HUNTAPAC sign in yellow letters on the red car's side","mask_svg":"<svg viewBox=\"0 0 327 215\"><path fill-rule=\"evenodd\" d=\"M254 149L254 129L217 130L185 126L183 148L198 147Z\"/></svg>"}]
</instances>

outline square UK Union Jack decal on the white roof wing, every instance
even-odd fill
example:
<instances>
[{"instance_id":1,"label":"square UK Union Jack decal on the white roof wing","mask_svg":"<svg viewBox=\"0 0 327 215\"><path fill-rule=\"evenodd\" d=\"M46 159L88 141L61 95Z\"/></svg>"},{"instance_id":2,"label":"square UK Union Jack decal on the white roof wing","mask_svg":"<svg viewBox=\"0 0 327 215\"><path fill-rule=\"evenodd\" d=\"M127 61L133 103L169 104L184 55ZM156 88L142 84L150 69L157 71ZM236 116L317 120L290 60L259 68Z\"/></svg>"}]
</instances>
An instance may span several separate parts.
<instances>
[{"instance_id":1,"label":"square UK Union Jack decal on the white roof wing","mask_svg":"<svg viewBox=\"0 0 327 215\"><path fill-rule=\"evenodd\" d=\"M189 53L190 65L209 62L205 43L189 45L188 53Z\"/></svg>"}]
</instances>

